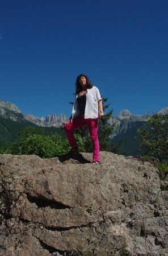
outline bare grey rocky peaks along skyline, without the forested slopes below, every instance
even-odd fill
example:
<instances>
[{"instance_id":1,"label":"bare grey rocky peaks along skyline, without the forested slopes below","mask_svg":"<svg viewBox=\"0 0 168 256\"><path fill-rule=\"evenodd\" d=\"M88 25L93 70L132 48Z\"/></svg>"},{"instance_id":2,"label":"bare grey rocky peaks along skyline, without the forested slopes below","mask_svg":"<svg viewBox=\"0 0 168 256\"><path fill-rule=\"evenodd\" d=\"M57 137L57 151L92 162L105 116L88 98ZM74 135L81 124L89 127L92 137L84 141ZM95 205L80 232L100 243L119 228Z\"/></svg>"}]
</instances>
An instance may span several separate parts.
<instances>
[{"instance_id":1,"label":"bare grey rocky peaks along skyline, without the forested slopes below","mask_svg":"<svg viewBox=\"0 0 168 256\"><path fill-rule=\"evenodd\" d=\"M157 113L165 114L166 112L168 112L168 106L159 110ZM25 119L41 127L60 127L68 121L65 114L57 115L53 113L51 115L47 115L47 117L35 117L32 114L23 115L18 107L12 104L12 102L5 102L2 100L0 100L0 116L3 118L10 118L13 121ZM126 131L128 127L131 127L131 123L146 121L148 120L146 119L145 115L131 114L127 109L121 110L119 114L117 114L115 117L111 117L110 119L110 123L115 124L112 137Z\"/></svg>"}]
</instances>

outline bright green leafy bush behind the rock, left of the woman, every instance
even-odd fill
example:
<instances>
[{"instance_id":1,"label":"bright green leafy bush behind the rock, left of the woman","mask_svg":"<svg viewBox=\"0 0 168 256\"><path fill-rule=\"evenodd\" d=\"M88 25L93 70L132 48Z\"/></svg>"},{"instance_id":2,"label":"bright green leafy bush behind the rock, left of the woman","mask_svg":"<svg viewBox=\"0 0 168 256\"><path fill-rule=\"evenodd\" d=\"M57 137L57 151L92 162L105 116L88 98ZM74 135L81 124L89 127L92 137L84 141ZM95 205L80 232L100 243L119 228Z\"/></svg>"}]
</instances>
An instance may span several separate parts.
<instances>
[{"instance_id":1,"label":"bright green leafy bush behind the rock, left of the woman","mask_svg":"<svg viewBox=\"0 0 168 256\"><path fill-rule=\"evenodd\" d=\"M76 135L79 150L84 151L81 137ZM49 133L44 128L26 127L19 132L19 139L12 142L2 153L14 155L38 155L50 158L66 154L70 150L67 139L57 133Z\"/></svg>"}]
</instances>

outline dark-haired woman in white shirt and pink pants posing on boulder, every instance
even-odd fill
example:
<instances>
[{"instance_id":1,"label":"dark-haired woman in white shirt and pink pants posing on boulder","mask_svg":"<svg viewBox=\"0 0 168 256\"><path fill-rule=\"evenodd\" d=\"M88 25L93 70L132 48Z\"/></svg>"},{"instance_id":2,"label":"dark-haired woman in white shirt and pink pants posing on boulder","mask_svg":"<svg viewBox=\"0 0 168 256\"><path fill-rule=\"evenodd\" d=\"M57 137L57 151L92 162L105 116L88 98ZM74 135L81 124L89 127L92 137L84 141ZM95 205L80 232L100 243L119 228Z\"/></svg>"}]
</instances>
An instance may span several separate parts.
<instances>
[{"instance_id":1,"label":"dark-haired woman in white shirt and pink pants posing on boulder","mask_svg":"<svg viewBox=\"0 0 168 256\"><path fill-rule=\"evenodd\" d=\"M79 152L73 130L87 125L93 145L93 163L99 164L98 118L104 115L99 89L91 84L86 75L81 74L77 77L75 94L76 100L72 115L64 125L65 133L72 147L71 152Z\"/></svg>"}]
</instances>

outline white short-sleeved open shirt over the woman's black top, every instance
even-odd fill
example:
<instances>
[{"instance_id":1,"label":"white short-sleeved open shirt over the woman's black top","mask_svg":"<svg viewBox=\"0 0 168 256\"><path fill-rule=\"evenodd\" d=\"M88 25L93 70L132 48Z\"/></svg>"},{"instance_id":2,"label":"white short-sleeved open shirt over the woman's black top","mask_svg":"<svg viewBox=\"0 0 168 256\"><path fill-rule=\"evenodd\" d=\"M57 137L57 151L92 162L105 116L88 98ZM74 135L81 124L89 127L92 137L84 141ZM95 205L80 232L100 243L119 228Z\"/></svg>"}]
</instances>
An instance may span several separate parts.
<instances>
[{"instance_id":1,"label":"white short-sleeved open shirt over the woman's black top","mask_svg":"<svg viewBox=\"0 0 168 256\"><path fill-rule=\"evenodd\" d=\"M78 96L77 96L78 97ZM77 97L73 105L72 109L72 118L77 117L79 115L77 108ZM98 102L102 100L100 96L99 89L96 86L93 86L91 89L87 89L86 93L86 107L85 107L85 119L86 118L98 118L99 109Z\"/></svg>"}]
</instances>

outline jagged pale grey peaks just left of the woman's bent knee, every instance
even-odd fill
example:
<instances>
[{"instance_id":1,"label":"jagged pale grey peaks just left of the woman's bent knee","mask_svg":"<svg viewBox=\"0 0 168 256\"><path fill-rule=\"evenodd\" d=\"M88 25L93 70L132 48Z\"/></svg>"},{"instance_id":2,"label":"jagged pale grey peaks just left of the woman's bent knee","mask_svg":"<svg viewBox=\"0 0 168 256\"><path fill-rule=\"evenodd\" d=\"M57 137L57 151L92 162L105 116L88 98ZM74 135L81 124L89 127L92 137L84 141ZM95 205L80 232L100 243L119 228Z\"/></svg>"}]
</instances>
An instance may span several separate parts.
<instances>
[{"instance_id":1,"label":"jagged pale grey peaks just left of the woman's bent knee","mask_svg":"<svg viewBox=\"0 0 168 256\"><path fill-rule=\"evenodd\" d=\"M41 118L34 117L31 114L26 114L26 115L24 115L24 119L26 119L27 121L30 121L32 123L35 123L38 126L42 126L42 127L51 127L51 126L60 127L68 121L68 118L64 114L47 115L47 117L45 117L45 118L44 117L41 117Z\"/></svg>"}]
</instances>

